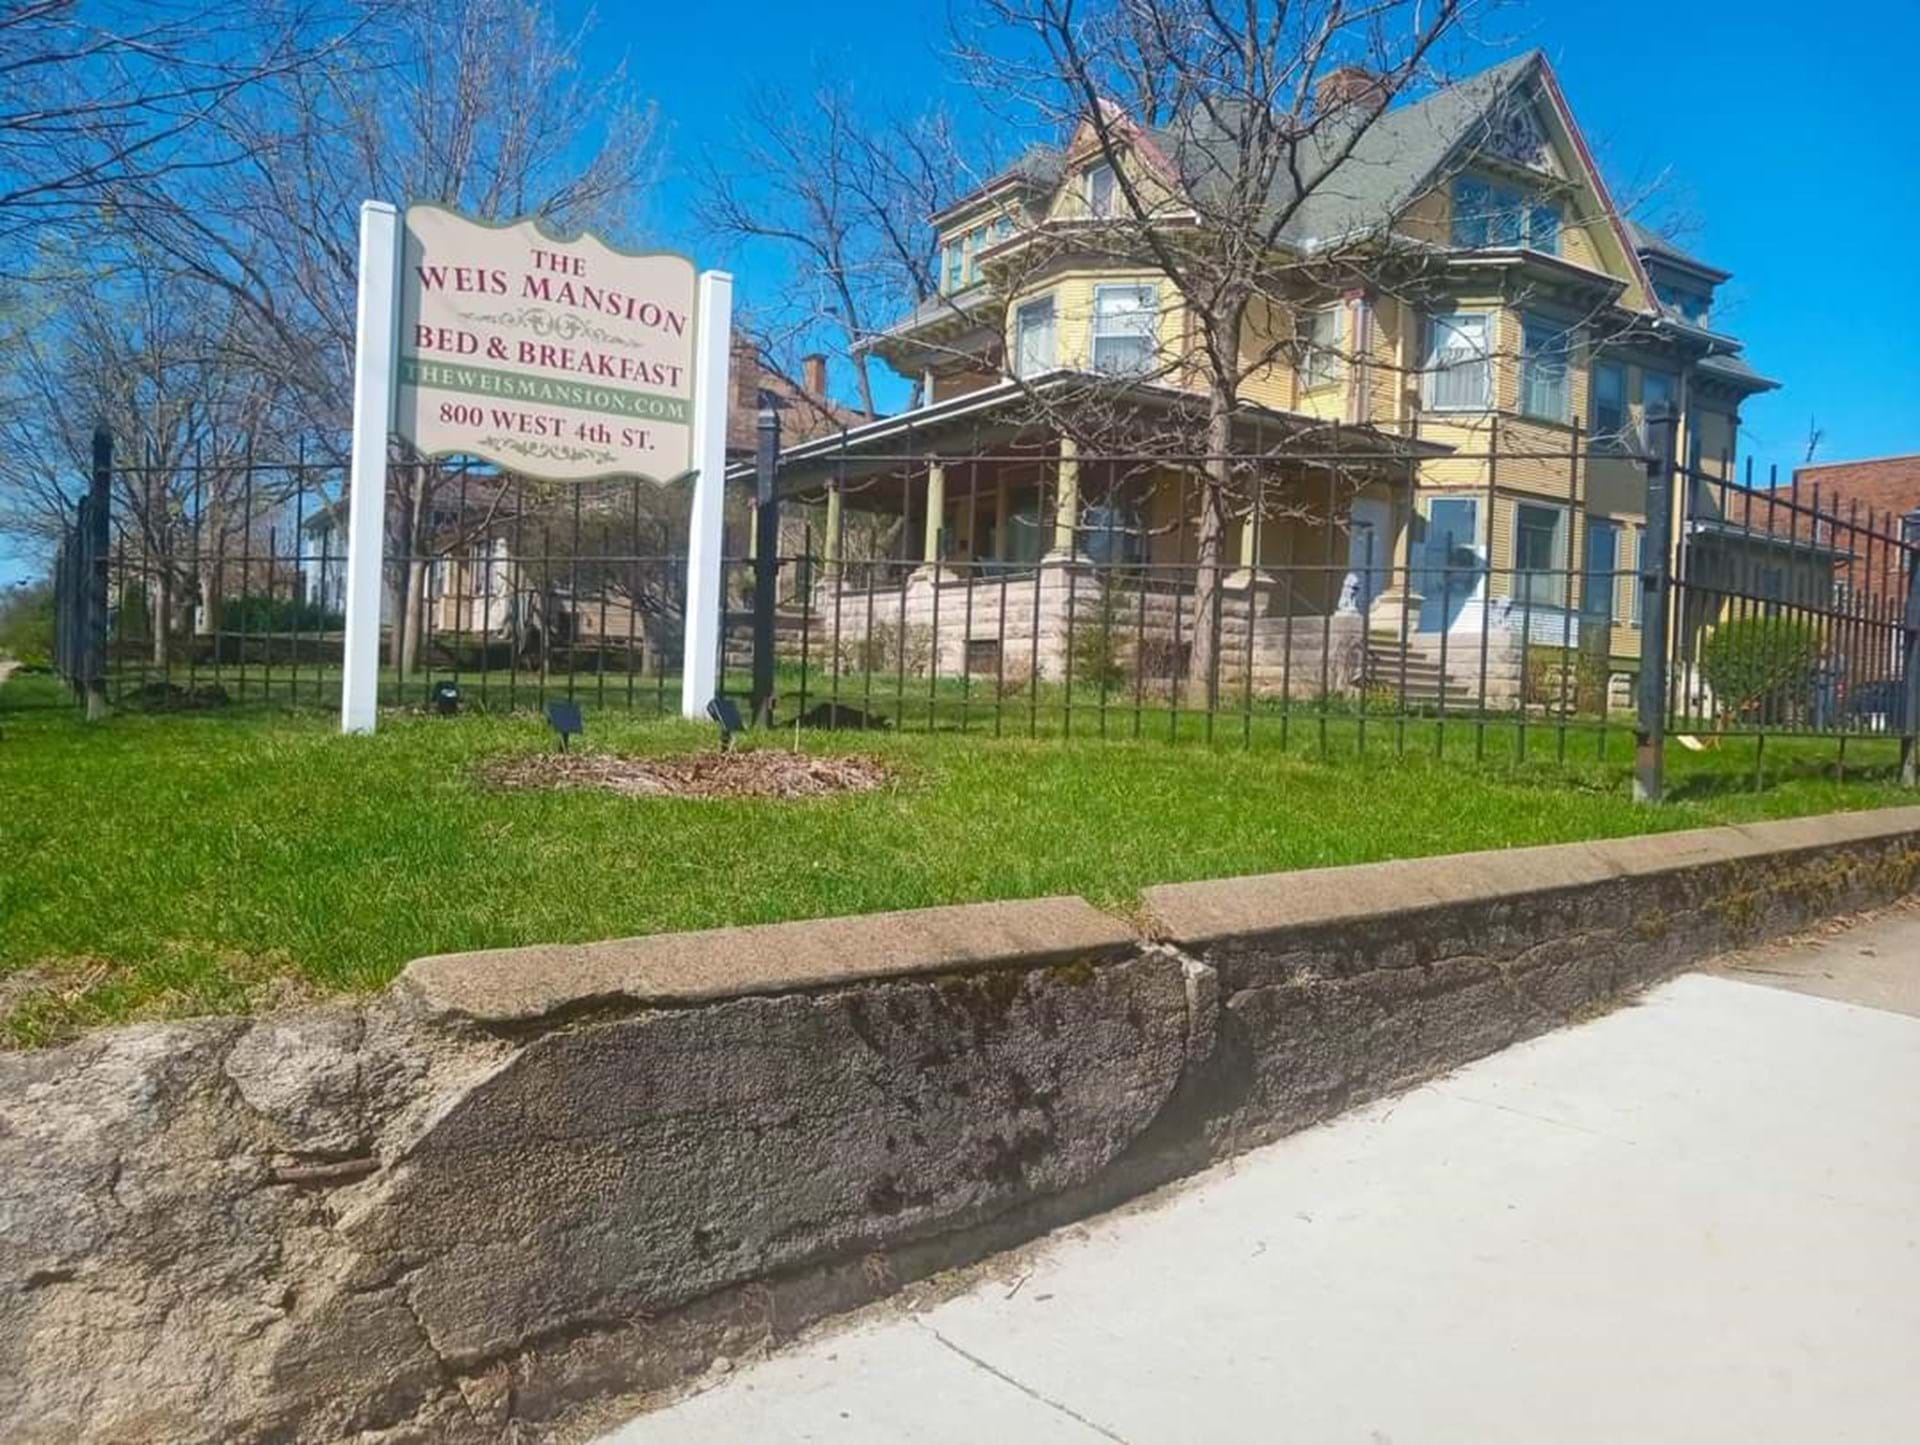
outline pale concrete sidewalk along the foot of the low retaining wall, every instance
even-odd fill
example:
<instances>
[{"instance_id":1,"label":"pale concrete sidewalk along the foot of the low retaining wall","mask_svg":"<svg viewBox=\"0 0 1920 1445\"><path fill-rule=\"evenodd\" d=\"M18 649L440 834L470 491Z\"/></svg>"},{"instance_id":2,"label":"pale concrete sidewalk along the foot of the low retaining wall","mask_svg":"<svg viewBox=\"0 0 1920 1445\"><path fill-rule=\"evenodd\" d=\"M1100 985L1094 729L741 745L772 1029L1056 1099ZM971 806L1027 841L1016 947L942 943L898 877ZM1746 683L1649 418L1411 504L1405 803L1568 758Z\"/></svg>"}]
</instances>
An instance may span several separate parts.
<instances>
[{"instance_id":1,"label":"pale concrete sidewalk along the foot of the low retaining wall","mask_svg":"<svg viewBox=\"0 0 1920 1445\"><path fill-rule=\"evenodd\" d=\"M1916 1439L1916 1015L1912 912L1732 959L607 1441Z\"/></svg>"}]
</instances>

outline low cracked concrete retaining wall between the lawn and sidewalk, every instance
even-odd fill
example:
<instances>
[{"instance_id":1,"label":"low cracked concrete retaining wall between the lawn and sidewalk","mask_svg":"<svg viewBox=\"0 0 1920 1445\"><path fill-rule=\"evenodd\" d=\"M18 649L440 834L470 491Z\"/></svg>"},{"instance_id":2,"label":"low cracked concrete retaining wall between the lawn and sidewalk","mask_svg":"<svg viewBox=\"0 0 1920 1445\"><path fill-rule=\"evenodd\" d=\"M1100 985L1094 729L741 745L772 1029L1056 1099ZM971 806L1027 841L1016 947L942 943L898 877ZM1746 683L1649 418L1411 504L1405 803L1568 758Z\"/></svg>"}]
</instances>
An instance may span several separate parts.
<instances>
[{"instance_id":1,"label":"low cracked concrete retaining wall between the lawn and sidewalk","mask_svg":"<svg viewBox=\"0 0 1920 1445\"><path fill-rule=\"evenodd\" d=\"M0 1437L591 1403L1901 896L1920 810L422 959L0 1057Z\"/></svg>"}]
</instances>

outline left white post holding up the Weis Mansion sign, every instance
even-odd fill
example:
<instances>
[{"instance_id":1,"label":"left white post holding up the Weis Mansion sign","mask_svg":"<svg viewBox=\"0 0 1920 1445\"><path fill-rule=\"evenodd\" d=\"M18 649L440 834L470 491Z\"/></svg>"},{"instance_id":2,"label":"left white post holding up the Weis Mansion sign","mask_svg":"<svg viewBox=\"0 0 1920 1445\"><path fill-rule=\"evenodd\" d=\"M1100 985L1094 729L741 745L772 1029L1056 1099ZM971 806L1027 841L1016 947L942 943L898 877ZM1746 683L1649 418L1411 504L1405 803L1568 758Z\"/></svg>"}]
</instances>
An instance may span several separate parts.
<instances>
[{"instance_id":1,"label":"left white post holding up the Weis Mansion sign","mask_svg":"<svg viewBox=\"0 0 1920 1445\"><path fill-rule=\"evenodd\" d=\"M348 474L348 633L340 731L371 733L380 702L380 576L386 553L386 438L394 430L399 330L399 213L361 205L361 274L353 347L353 466Z\"/></svg>"}]
</instances>

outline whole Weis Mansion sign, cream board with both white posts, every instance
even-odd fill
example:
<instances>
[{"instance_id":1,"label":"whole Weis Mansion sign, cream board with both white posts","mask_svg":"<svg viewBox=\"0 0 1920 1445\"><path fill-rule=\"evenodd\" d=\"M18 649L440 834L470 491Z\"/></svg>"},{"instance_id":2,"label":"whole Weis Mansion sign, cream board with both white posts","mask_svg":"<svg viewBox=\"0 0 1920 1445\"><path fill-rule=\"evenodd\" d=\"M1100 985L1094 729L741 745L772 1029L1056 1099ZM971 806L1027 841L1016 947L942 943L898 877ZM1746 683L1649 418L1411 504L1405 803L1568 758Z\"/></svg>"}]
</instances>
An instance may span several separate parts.
<instances>
[{"instance_id":1,"label":"whole Weis Mansion sign, cream board with both white posts","mask_svg":"<svg viewBox=\"0 0 1920 1445\"><path fill-rule=\"evenodd\" d=\"M380 675L388 432L547 482L695 478L682 710L720 652L733 282L672 251L557 240L440 205L361 207L342 729L371 733Z\"/></svg>"}]
</instances>

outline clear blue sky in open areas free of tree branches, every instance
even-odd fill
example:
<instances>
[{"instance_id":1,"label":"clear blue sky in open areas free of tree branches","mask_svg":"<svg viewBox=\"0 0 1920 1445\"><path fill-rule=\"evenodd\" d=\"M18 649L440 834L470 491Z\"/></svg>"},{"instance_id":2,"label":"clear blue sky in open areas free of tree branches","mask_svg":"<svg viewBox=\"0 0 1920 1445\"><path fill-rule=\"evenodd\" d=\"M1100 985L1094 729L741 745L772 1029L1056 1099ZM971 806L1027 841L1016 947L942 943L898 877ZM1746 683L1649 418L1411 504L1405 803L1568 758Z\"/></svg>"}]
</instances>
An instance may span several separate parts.
<instances>
[{"instance_id":1,"label":"clear blue sky in open areas free of tree branches","mask_svg":"<svg viewBox=\"0 0 1920 1445\"><path fill-rule=\"evenodd\" d=\"M964 2L964 0L962 0ZM584 0L563 0L576 17ZM1855 0L1832 19L1803 0L1544 0L1496 12L1484 59L1526 46L1553 59L1619 192L1659 178L1651 219L1690 221L1684 244L1734 272L1716 324L1780 391L1747 403L1743 451L1801 461L1920 451L1920 4ZM947 92L945 0L795 6L601 6L599 54L626 52L660 107L664 173L645 225L660 244L730 265L741 292L776 286L762 259L703 251L687 223L693 163L722 148L741 102L768 83L843 77L876 104ZM0 585L21 574L0 539Z\"/></svg>"}]
</instances>

